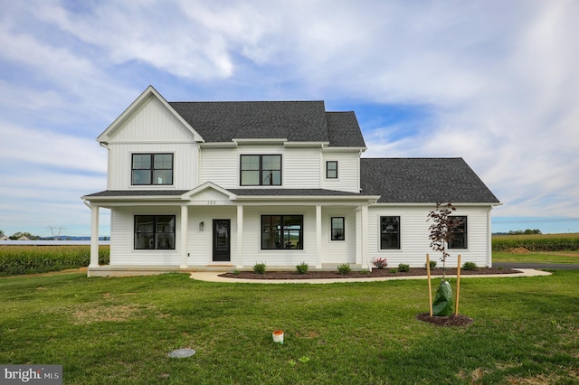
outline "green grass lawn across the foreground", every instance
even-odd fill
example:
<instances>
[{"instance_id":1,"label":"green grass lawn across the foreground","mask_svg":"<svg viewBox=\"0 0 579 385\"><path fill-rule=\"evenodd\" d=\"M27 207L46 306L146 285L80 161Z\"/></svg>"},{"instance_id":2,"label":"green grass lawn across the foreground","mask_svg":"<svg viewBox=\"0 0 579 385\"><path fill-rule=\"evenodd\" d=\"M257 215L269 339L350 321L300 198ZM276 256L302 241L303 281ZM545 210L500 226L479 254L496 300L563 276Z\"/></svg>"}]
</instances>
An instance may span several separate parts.
<instances>
[{"instance_id":1,"label":"green grass lawn across the foreground","mask_svg":"<svg viewBox=\"0 0 579 385\"><path fill-rule=\"evenodd\" d=\"M577 383L578 282L561 270L462 279L474 323L444 328L415 319L425 280L1 278L0 363L62 364L64 383L81 384ZM178 348L196 354L167 357Z\"/></svg>"}]
</instances>

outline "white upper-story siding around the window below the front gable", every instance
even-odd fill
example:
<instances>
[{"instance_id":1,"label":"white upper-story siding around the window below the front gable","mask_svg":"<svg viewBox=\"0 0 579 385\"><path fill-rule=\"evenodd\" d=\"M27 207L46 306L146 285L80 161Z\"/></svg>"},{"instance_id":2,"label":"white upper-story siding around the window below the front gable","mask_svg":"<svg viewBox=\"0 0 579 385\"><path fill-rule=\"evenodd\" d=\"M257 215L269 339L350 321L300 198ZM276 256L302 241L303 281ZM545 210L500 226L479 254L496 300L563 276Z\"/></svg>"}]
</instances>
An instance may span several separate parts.
<instances>
[{"instance_id":1,"label":"white upper-story siding around the window below the front gable","mask_svg":"<svg viewBox=\"0 0 579 385\"><path fill-rule=\"evenodd\" d=\"M172 185L131 185L132 154L173 154ZM109 150L109 190L191 190L198 184L198 146L195 143L112 144Z\"/></svg>"}]
</instances>

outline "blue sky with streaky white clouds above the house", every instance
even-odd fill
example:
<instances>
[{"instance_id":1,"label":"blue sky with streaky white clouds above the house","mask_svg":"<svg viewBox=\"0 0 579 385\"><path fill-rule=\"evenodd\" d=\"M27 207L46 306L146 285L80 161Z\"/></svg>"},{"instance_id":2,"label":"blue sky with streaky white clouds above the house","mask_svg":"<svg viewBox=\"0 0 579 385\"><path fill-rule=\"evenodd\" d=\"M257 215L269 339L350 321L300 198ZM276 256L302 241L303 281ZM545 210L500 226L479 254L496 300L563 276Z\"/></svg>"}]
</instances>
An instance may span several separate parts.
<instances>
[{"instance_id":1,"label":"blue sky with streaky white clouds above the house","mask_svg":"<svg viewBox=\"0 0 579 385\"><path fill-rule=\"evenodd\" d=\"M0 0L0 230L90 234L96 136L169 101L326 100L365 156L460 156L493 231L579 232L579 2ZM109 234L107 214L100 234Z\"/></svg>"}]
</instances>

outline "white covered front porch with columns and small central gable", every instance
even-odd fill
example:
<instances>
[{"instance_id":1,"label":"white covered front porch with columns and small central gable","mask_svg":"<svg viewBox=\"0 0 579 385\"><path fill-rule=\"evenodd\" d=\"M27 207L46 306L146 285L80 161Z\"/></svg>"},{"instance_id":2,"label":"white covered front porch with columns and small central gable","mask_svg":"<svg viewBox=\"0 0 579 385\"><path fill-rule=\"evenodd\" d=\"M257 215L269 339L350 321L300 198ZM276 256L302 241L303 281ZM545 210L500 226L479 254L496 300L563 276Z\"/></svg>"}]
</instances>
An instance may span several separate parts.
<instances>
[{"instance_id":1,"label":"white covered front porch with columns and small central gable","mask_svg":"<svg viewBox=\"0 0 579 385\"><path fill-rule=\"evenodd\" d=\"M227 191L205 183L192 191L151 195L138 203L118 196L90 200L89 277L247 270L258 262L265 262L269 270L293 270L301 262L308 263L312 270L332 270L340 263L348 263L353 269L371 269L364 245L372 199L357 194L257 196L236 192L239 190ZM109 266L100 266L98 259L100 208L111 210ZM134 218L142 214L174 218L172 249L136 249ZM303 243L271 247L273 243L265 239L263 221L287 216L302 218L299 231ZM346 236L339 241L331 237L334 218L345 223Z\"/></svg>"}]
</instances>

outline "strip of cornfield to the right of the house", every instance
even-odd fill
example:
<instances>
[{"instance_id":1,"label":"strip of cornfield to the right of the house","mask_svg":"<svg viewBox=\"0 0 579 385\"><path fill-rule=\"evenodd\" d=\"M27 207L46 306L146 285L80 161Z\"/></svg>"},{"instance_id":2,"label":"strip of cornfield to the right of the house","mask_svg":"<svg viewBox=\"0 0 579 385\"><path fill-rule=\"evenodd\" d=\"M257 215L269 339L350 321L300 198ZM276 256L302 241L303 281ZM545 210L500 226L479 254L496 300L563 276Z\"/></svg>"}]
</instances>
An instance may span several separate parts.
<instances>
[{"instance_id":1,"label":"strip of cornfield to the right of the house","mask_svg":"<svg viewBox=\"0 0 579 385\"><path fill-rule=\"evenodd\" d=\"M518 248L529 251L579 250L579 233L495 235L492 237L493 251Z\"/></svg>"}]
</instances>

